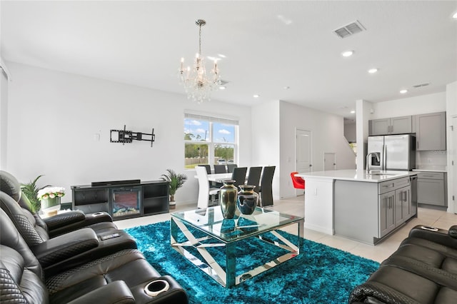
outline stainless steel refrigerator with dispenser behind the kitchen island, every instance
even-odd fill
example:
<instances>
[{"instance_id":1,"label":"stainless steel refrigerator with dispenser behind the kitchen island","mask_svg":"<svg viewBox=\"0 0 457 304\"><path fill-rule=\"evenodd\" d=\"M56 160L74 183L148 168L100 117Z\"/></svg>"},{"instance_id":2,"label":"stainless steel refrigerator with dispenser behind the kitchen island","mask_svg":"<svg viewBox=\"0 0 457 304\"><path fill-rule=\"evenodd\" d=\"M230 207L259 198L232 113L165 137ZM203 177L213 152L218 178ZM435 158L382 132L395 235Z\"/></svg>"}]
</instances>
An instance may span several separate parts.
<instances>
[{"instance_id":1,"label":"stainless steel refrigerator with dispenser behind the kitchen island","mask_svg":"<svg viewBox=\"0 0 457 304\"><path fill-rule=\"evenodd\" d=\"M411 171L416 168L416 136L368 136L368 168ZM378 156L378 158L376 158Z\"/></svg>"}]
</instances>

